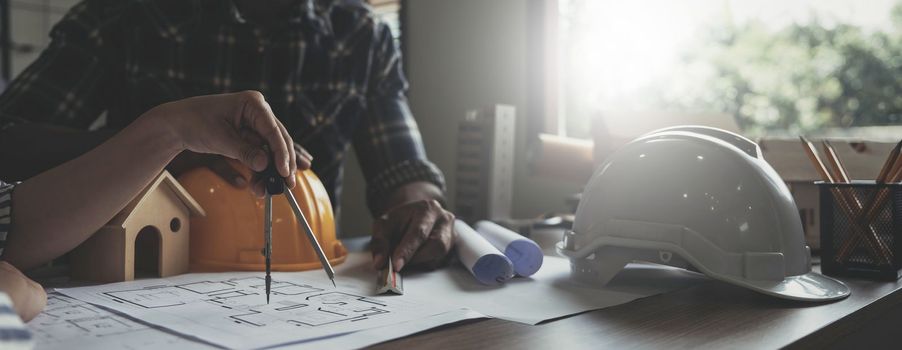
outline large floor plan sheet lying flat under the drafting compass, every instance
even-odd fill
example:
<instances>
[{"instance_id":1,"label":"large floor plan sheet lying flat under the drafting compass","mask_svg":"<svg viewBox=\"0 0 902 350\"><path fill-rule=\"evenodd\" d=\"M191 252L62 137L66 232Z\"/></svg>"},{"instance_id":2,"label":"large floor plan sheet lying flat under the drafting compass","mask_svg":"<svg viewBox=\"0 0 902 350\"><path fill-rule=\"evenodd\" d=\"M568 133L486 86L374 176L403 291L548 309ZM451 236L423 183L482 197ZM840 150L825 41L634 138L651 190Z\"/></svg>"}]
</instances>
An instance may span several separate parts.
<instances>
[{"instance_id":1,"label":"large floor plan sheet lying flat under the drafting compass","mask_svg":"<svg viewBox=\"0 0 902 350\"><path fill-rule=\"evenodd\" d=\"M260 273L188 274L60 292L228 348L307 342L460 309L314 285L293 273L274 274L269 304Z\"/></svg>"}]
</instances>

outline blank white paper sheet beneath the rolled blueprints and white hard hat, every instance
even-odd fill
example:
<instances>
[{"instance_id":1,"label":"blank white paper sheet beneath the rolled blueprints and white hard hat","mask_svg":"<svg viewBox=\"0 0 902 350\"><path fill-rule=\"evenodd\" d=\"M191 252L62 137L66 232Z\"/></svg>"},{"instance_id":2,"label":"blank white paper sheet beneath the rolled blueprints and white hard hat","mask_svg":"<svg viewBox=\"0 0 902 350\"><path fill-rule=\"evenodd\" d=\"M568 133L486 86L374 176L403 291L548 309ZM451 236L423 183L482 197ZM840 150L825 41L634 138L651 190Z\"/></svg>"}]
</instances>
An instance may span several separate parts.
<instances>
[{"instance_id":1,"label":"blank white paper sheet beneath the rolled blueprints and white hard hat","mask_svg":"<svg viewBox=\"0 0 902 350\"><path fill-rule=\"evenodd\" d=\"M351 253L336 270L336 281L375 290L369 253ZM303 272L308 280L328 281L322 272ZM629 264L607 286L594 287L570 279L570 262L545 256L531 277L517 277L499 286L485 286L458 265L434 272L405 273L404 296L466 307L486 316L526 324L602 309L632 300L709 281L682 269Z\"/></svg>"}]
</instances>

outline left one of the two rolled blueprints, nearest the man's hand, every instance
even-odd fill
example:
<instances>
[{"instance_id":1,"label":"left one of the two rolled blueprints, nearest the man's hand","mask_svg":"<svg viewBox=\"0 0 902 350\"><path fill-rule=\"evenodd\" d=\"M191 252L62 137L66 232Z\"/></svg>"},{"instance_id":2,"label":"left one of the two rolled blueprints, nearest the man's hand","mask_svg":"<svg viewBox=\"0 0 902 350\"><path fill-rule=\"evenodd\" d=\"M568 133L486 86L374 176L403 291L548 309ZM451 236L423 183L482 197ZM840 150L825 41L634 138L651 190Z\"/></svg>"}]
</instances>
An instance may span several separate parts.
<instances>
[{"instance_id":1,"label":"left one of the two rolled blueprints, nearest the man's hand","mask_svg":"<svg viewBox=\"0 0 902 350\"><path fill-rule=\"evenodd\" d=\"M454 230L457 232L457 256L479 283L501 284L514 277L511 261L472 227L454 220Z\"/></svg>"}]
</instances>

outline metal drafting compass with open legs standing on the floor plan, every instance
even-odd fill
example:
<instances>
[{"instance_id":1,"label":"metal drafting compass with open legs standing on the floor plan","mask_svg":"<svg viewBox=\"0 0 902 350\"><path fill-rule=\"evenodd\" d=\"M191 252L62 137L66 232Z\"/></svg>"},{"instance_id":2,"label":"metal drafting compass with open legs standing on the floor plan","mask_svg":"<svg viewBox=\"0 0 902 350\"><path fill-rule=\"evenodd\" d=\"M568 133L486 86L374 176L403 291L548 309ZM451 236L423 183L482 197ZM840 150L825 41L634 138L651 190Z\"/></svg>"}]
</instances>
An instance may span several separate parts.
<instances>
[{"instance_id":1,"label":"metal drafting compass with open legs standing on the floor plan","mask_svg":"<svg viewBox=\"0 0 902 350\"><path fill-rule=\"evenodd\" d=\"M266 166L266 170L263 171L262 176L264 177L263 185L265 189L265 194L263 195L263 256L266 258L266 303L269 304L269 291L270 286L272 285L272 278L270 277L270 267L272 263L273 195L285 195L285 198L288 200L288 205L291 206L291 210L294 212L294 216L304 227L304 232L307 234L307 239L310 240L310 245L313 246L313 250L319 257L320 264L323 265L323 270L326 271L326 275L328 275L329 279L332 280L332 286L334 287L335 270L332 269L332 265L329 264L329 259L326 258L326 254L323 253L323 248L319 245L319 241L316 239L316 235L314 235L313 230L310 229L310 223L307 222L307 217L305 217L304 213L301 211L301 207L298 205L297 199L294 197L294 194L291 193L291 190L286 188L287 186L285 186L285 180L282 179L282 176L280 176L279 172L276 170L275 162L273 161L271 154L269 158L269 164Z\"/></svg>"}]
</instances>

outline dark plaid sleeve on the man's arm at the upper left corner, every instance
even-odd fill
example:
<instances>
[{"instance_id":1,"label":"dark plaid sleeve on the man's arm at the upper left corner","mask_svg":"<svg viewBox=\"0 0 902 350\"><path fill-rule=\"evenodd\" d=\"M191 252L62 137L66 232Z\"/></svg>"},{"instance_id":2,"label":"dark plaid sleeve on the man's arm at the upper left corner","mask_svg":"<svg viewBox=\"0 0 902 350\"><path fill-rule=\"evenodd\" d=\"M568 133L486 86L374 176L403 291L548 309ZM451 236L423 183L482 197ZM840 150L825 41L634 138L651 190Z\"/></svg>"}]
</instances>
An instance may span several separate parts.
<instances>
[{"instance_id":1,"label":"dark plaid sleeve on the man's arm at the upper left corner","mask_svg":"<svg viewBox=\"0 0 902 350\"><path fill-rule=\"evenodd\" d=\"M124 2L124 1L123 1ZM75 5L51 30L41 55L0 95L0 131L20 123L87 128L101 113L106 1Z\"/></svg>"}]
</instances>

